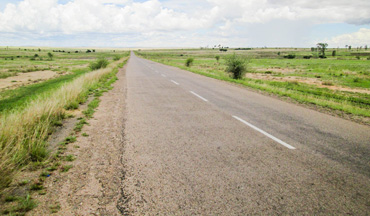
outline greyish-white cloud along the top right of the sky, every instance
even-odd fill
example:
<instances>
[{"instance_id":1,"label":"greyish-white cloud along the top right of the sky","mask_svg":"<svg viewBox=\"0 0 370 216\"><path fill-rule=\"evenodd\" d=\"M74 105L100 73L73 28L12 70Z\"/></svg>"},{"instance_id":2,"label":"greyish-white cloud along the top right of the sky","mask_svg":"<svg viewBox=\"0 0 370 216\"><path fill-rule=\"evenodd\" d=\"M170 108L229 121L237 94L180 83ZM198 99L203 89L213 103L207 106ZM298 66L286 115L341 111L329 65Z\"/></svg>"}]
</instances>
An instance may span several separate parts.
<instances>
[{"instance_id":1,"label":"greyish-white cloud along the top right of the sky","mask_svg":"<svg viewBox=\"0 0 370 216\"><path fill-rule=\"evenodd\" d=\"M316 23L370 23L368 0L208 0L220 14L242 22L311 19ZM222 13L221 13L222 12Z\"/></svg>"}]
</instances>

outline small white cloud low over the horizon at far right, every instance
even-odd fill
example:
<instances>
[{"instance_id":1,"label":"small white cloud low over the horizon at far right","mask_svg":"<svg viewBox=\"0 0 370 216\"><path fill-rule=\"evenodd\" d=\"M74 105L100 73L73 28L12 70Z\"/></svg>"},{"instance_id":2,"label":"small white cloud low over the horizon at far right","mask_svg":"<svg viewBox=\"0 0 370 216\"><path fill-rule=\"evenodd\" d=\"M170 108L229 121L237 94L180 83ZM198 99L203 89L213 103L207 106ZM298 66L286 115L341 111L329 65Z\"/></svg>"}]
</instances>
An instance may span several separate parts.
<instances>
[{"instance_id":1,"label":"small white cloud low over the horizon at far right","mask_svg":"<svg viewBox=\"0 0 370 216\"><path fill-rule=\"evenodd\" d=\"M370 29L361 28L358 32L339 35L329 40L328 43L332 47L344 47L345 45L360 47L370 45Z\"/></svg>"}]
</instances>

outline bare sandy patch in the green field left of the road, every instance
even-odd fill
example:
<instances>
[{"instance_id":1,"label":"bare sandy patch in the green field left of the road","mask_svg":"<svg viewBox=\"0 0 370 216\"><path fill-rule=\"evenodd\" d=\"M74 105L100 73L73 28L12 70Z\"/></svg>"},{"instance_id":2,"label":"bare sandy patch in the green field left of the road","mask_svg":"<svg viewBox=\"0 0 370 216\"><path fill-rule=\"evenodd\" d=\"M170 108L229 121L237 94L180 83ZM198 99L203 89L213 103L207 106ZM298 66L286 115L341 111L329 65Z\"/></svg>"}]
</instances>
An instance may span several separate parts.
<instances>
[{"instance_id":1,"label":"bare sandy patch in the green field left of the road","mask_svg":"<svg viewBox=\"0 0 370 216\"><path fill-rule=\"evenodd\" d=\"M29 73L19 73L17 76L0 79L0 89L14 88L22 85L28 85L40 80L48 80L57 76L57 72L45 70Z\"/></svg>"}]
</instances>

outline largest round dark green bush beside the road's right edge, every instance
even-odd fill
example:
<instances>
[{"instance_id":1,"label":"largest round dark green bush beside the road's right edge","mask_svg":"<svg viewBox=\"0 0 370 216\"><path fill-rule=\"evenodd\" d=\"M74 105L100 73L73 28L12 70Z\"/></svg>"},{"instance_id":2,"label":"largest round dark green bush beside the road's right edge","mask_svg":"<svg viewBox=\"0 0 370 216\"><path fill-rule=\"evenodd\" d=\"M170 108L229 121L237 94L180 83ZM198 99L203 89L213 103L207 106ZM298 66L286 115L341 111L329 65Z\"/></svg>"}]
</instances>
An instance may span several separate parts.
<instances>
[{"instance_id":1,"label":"largest round dark green bush beside the road's right edge","mask_svg":"<svg viewBox=\"0 0 370 216\"><path fill-rule=\"evenodd\" d=\"M235 53L226 58L226 66L226 72L230 73L233 79L241 79L247 72L246 60Z\"/></svg>"}]
</instances>

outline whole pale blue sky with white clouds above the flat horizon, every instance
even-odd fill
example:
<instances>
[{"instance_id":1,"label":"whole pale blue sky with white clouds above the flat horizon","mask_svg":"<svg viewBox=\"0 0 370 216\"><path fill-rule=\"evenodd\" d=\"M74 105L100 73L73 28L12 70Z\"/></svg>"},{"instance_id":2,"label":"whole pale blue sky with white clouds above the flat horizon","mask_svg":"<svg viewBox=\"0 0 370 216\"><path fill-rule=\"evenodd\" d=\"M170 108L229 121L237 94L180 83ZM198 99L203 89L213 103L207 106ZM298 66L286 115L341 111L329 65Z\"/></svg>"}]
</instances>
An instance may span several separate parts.
<instances>
[{"instance_id":1,"label":"whole pale blue sky with white clouds above the flat horizon","mask_svg":"<svg viewBox=\"0 0 370 216\"><path fill-rule=\"evenodd\" d=\"M370 0L0 0L0 46L370 46Z\"/></svg>"}]
</instances>

